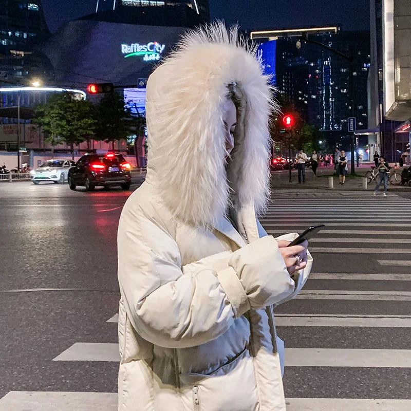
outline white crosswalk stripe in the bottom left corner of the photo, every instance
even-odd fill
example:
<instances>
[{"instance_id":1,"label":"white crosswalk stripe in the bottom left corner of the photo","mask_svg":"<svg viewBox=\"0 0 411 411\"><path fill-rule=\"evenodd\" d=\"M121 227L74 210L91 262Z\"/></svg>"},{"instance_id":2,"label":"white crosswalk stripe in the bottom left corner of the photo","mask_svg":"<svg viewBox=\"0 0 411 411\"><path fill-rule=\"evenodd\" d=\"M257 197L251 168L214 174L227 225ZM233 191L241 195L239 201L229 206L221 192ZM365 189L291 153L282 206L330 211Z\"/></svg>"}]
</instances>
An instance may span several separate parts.
<instances>
[{"instance_id":1,"label":"white crosswalk stripe in the bottom left corner of the photo","mask_svg":"<svg viewBox=\"0 0 411 411\"><path fill-rule=\"evenodd\" d=\"M0 411L117 411L117 393L10 391Z\"/></svg>"}]
</instances>

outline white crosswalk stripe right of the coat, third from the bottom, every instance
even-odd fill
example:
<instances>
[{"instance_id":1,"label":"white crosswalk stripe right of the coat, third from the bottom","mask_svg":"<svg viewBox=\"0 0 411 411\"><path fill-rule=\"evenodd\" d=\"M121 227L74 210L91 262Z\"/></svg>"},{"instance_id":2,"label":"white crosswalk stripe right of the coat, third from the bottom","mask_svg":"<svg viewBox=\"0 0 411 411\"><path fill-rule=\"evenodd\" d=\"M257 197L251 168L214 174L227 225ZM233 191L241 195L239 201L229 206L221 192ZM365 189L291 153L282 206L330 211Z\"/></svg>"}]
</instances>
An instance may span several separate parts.
<instances>
[{"instance_id":1,"label":"white crosswalk stripe right of the coat, third from the bottom","mask_svg":"<svg viewBox=\"0 0 411 411\"><path fill-rule=\"evenodd\" d=\"M378 327L411 328L411 316L395 315L289 315L276 314L275 325L283 327Z\"/></svg>"}]
</instances>

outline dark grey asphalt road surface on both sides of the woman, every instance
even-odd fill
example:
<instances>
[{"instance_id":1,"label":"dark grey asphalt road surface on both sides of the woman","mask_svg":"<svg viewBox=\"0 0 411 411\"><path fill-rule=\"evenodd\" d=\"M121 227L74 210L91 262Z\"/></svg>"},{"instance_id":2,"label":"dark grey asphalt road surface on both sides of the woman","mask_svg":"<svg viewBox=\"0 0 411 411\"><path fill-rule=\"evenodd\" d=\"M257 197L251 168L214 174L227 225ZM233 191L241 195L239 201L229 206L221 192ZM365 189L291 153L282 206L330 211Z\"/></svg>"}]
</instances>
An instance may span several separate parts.
<instances>
[{"instance_id":1,"label":"dark grey asphalt road surface on both sides of the woman","mask_svg":"<svg viewBox=\"0 0 411 411\"><path fill-rule=\"evenodd\" d=\"M99 397L61 409L116 409L116 361L55 359L77 343L116 347L107 320L117 313L117 223L130 193L0 183L0 411L40 409L14 391L112 393L111 405ZM269 234L326 224L310 244L312 278L276 309L286 396L411 400L409 194L279 190L273 199L261 220ZM401 404L369 409L411 409Z\"/></svg>"}]
</instances>

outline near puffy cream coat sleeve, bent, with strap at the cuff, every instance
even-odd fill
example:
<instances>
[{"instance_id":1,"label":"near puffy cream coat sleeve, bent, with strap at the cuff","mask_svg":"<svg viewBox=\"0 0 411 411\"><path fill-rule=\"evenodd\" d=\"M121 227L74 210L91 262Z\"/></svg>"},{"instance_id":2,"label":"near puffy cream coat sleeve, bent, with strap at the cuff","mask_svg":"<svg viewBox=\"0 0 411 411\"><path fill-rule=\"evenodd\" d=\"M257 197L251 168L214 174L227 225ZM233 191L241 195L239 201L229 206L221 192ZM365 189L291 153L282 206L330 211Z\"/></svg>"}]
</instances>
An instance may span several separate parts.
<instances>
[{"instance_id":1,"label":"near puffy cream coat sleeve, bent, with strap at the cuff","mask_svg":"<svg viewBox=\"0 0 411 411\"><path fill-rule=\"evenodd\" d=\"M272 236L181 266L174 238L132 214L123 210L119 224L119 284L133 327L153 344L204 344L250 308L272 305L294 290L284 261L275 268L281 254Z\"/></svg>"}]
</instances>

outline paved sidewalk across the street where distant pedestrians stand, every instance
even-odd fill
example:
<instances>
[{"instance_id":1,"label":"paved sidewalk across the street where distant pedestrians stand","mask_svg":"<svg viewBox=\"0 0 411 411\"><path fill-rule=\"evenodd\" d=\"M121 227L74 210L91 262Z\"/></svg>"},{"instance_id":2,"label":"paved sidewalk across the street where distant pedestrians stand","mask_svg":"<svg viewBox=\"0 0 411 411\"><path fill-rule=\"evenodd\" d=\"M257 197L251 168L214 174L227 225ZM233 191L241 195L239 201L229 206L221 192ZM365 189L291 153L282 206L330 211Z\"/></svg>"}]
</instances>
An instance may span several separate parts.
<instances>
[{"instance_id":1,"label":"paved sidewalk across the street where distant pedestrians stand","mask_svg":"<svg viewBox=\"0 0 411 411\"><path fill-rule=\"evenodd\" d=\"M363 189L363 176L367 173L367 171L371 170L371 165L373 166L373 162L363 163L360 167L356 167L356 176L351 177L350 174L350 164L348 164L348 174L345 180L344 185L340 185L339 177L334 174L334 168L327 166L327 167L319 167L317 169L317 177L314 176L312 170L306 168L305 170L305 184L298 184L298 171L292 170L291 171L291 183L289 182L289 170L283 171L274 171L271 172L271 188L272 189L302 189L302 190L331 190L331 191L364 191ZM390 166L394 166L390 164ZM401 169L398 169L401 173ZM334 181L334 188L329 188L328 177L333 176ZM368 184L367 191L371 192L375 190L376 183L375 181L371 181ZM381 184L380 190L384 189L384 185ZM403 185L392 185L388 183L388 191L395 192L395 191L402 191L402 192L411 192L411 187L403 186Z\"/></svg>"}]
</instances>

